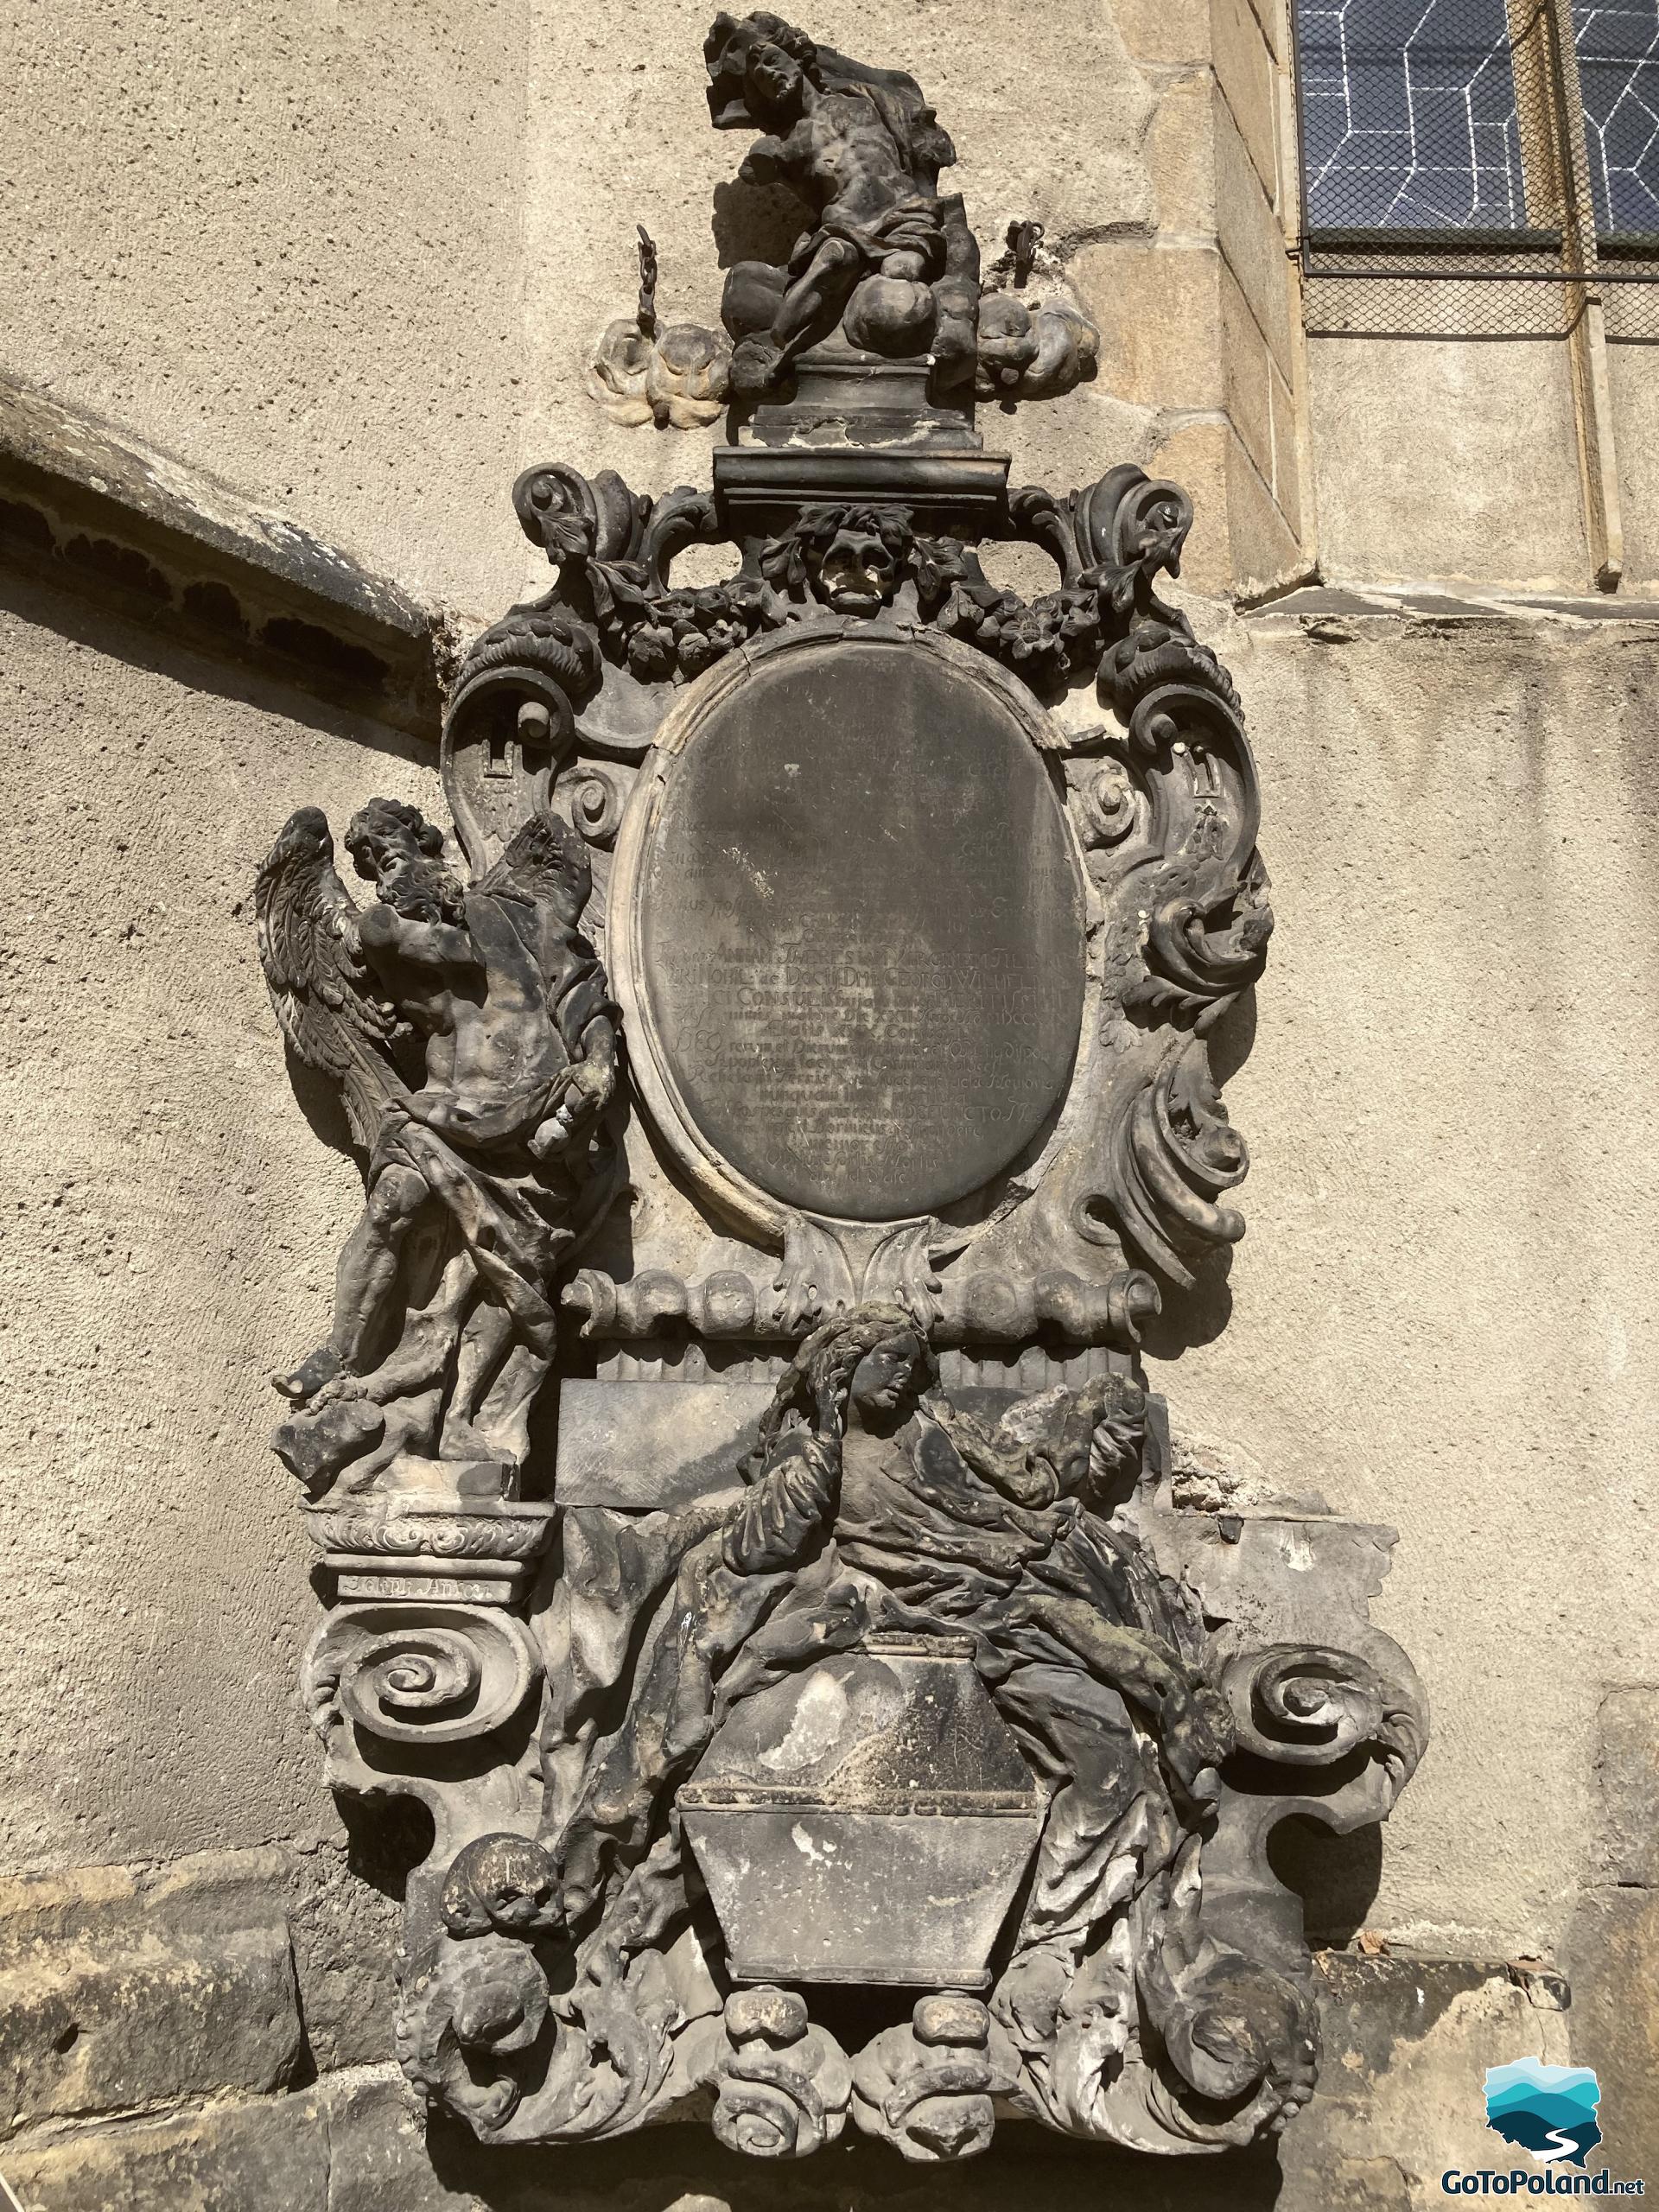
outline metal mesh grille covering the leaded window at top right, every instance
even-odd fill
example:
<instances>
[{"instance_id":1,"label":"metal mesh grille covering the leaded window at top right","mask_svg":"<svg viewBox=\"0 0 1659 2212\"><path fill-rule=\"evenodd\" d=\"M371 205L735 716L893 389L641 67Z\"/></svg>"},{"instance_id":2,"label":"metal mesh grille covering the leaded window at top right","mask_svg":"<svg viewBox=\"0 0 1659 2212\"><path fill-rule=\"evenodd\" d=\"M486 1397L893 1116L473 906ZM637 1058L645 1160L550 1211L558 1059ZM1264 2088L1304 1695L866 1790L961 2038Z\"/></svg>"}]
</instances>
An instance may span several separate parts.
<instances>
[{"instance_id":1,"label":"metal mesh grille covering the leaded window at top right","mask_svg":"<svg viewBox=\"0 0 1659 2212\"><path fill-rule=\"evenodd\" d=\"M1296 0L1307 330L1659 341L1659 0Z\"/></svg>"}]
</instances>

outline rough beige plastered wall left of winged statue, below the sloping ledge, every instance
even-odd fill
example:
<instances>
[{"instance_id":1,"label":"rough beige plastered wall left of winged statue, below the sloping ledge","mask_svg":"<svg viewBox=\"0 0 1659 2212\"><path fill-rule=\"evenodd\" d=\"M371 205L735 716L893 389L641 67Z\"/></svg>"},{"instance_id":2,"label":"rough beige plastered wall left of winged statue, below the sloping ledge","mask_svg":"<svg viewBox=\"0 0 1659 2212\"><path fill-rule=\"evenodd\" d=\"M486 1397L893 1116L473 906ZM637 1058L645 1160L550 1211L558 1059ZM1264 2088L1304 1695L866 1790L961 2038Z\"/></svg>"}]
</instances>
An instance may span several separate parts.
<instances>
[{"instance_id":1,"label":"rough beige plastered wall left of winged statue, below the sloping ledge","mask_svg":"<svg viewBox=\"0 0 1659 2212\"><path fill-rule=\"evenodd\" d=\"M252 880L305 801L429 799L431 748L15 577L0 606L0 1865L312 1836L268 1374L327 1312L361 1186L283 1077Z\"/></svg>"}]
</instances>

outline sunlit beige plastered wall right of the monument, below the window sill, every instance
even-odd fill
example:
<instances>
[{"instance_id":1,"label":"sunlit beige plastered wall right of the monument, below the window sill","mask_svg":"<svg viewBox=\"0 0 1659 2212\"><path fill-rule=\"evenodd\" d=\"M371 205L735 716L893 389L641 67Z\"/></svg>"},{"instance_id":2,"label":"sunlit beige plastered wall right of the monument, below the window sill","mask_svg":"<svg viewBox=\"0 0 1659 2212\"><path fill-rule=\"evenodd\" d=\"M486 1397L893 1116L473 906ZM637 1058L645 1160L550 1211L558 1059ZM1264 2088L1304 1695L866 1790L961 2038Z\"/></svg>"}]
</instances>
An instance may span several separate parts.
<instances>
[{"instance_id":1,"label":"sunlit beige plastered wall right of the monument, below the window sill","mask_svg":"<svg viewBox=\"0 0 1659 2212\"><path fill-rule=\"evenodd\" d=\"M1433 1736L1380 1924L1551 1949L1597 1705L1659 1679L1632 1110L1659 1082L1635 920L1659 626L1287 611L1234 635L1279 929L1228 1086L1250 1234L1166 1387L1272 1482L1400 1528L1374 1610Z\"/></svg>"}]
</instances>

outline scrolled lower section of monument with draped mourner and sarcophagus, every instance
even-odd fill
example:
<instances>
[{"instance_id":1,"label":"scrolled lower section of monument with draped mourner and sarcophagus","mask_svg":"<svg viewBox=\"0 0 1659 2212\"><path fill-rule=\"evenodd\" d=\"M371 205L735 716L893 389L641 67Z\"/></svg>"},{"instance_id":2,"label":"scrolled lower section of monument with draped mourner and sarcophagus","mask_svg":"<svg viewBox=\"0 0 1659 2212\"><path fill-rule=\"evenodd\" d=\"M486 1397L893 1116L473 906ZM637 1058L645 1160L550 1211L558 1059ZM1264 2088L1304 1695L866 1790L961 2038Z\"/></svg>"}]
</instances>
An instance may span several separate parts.
<instances>
[{"instance_id":1,"label":"scrolled lower section of monument with draped mourner and sarcophagus","mask_svg":"<svg viewBox=\"0 0 1659 2212\"><path fill-rule=\"evenodd\" d=\"M812 1343L843 1338L936 1378L900 1310ZM1177 1506L1121 1376L998 1396L993 1422L933 1380L832 1458L787 1429L701 1502L566 1504L533 1628L336 1610L307 1677L330 1772L436 1823L398 2048L484 2141L712 2095L754 2157L856 2126L960 2159L1006 2110L1208 2152L1307 2101L1310 1958L1270 1843L1380 1818L1420 1754L1416 1677L1365 1619L1391 1537ZM332 1553L416 1540L352 1513L314 1513ZM467 1524L535 1542L549 1509L414 1517L425 1548L380 1573ZM836 1984L918 1997L843 2048Z\"/></svg>"}]
</instances>

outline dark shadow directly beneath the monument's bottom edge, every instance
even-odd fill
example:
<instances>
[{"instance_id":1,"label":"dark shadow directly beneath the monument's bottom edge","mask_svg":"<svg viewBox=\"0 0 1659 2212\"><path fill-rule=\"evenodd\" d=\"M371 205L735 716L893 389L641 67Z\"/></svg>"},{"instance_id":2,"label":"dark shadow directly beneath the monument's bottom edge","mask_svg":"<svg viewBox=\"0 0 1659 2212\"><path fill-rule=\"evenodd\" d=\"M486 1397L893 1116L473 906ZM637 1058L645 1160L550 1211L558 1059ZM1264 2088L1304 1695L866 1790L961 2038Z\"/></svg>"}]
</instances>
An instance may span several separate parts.
<instances>
[{"instance_id":1,"label":"dark shadow directly beneath the monument's bottom edge","mask_svg":"<svg viewBox=\"0 0 1659 2212\"><path fill-rule=\"evenodd\" d=\"M801 2161L745 2159L708 2128L646 2128L615 2143L484 2150L465 2128L431 2124L431 2163L489 2212L1261 2212L1279 2203L1276 2150L1146 2159L1073 2143L1026 2121L1004 2124L964 2166L907 2166L887 2143L845 2135Z\"/></svg>"}]
</instances>

